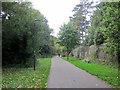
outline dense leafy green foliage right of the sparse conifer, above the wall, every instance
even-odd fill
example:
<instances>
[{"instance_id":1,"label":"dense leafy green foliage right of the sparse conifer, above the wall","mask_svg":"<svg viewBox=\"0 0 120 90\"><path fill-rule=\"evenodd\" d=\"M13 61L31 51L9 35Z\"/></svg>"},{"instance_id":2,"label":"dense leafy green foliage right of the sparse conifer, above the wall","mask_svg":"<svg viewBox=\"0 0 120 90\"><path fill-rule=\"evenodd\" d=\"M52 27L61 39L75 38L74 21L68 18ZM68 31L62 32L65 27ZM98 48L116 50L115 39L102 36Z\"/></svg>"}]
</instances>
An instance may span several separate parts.
<instances>
[{"instance_id":1,"label":"dense leafy green foliage right of the sparse conifer, above the wall","mask_svg":"<svg viewBox=\"0 0 120 90\"><path fill-rule=\"evenodd\" d=\"M94 11L89 29L89 36L94 38L94 44L106 43L107 52L113 55L118 55L119 52L118 4L118 2L101 2L96 5L97 10Z\"/></svg>"}]
</instances>

